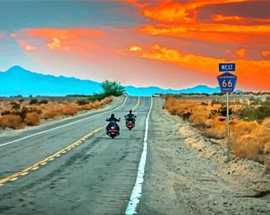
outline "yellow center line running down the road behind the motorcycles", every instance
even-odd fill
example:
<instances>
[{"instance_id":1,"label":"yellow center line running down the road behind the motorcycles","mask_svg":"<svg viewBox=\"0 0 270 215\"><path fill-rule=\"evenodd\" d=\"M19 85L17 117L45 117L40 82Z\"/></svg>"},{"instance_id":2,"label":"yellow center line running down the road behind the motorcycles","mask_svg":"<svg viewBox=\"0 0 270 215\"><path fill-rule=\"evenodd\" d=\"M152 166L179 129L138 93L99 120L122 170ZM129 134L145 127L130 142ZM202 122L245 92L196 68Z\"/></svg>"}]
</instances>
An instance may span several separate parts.
<instances>
[{"instance_id":1,"label":"yellow center line running down the road behind the motorcycles","mask_svg":"<svg viewBox=\"0 0 270 215\"><path fill-rule=\"evenodd\" d=\"M136 109L139 106L139 104L140 104L140 97L138 98L138 102L137 102L136 106L133 107L132 110ZM40 166L45 166L49 161L52 161L52 160L56 159L57 157L60 157L61 154L68 153L68 151L70 149L76 148L81 143L83 143L85 140L87 140L88 138L97 134L99 131L101 131L105 127L106 127L106 125L99 127L97 129L89 132L87 135L83 136L82 138L79 138L77 141L73 142L72 144L68 145L68 147L62 148L62 149L58 150L56 153L48 156L46 159L40 160L39 162L33 164L32 166L27 167L26 169L22 169L14 174L8 176L8 177L5 177L4 179L0 179L0 186L3 186L5 184L5 182L7 182L7 181L14 181L14 180L18 179L19 176L27 175L29 170L36 170L36 169L39 169Z\"/></svg>"}]
</instances>

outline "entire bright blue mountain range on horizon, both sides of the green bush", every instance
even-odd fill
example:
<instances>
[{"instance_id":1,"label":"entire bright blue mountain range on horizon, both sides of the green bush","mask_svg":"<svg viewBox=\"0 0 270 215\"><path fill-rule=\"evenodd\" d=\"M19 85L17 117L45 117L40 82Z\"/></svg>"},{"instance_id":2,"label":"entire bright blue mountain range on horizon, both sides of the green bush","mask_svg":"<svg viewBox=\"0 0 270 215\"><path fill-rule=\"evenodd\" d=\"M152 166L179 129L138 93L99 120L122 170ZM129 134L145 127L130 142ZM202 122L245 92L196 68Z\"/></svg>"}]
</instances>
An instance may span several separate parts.
<instances>
[{"instance_id":1,"label":"entire bright blue mountain range on horizon, both sides of the green bush","mask_svg":"<svg viewBox=\"0 0 270 215\"><path fill-rule=\"evenodd\" d=\"M153 94L219 93L219 87L197 86L186 89L162 89L160 87L125 87L130 96L151 96ZM75 77L55 77L38 74L23 67L11 67L0 72L0 97L22 95L67 96L91 95L102 92L99 82L81 80Z\"/></svg>"}]
</instances>

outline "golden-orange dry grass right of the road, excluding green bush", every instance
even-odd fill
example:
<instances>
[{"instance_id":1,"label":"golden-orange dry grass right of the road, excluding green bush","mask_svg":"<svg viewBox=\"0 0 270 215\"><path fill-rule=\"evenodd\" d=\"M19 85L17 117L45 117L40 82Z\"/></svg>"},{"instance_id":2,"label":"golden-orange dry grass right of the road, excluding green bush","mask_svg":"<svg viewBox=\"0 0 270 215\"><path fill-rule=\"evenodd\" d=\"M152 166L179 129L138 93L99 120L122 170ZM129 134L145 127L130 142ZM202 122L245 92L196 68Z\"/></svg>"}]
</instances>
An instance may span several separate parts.
<instances>
[{"instance_id":1,"label":"golden-orange dry grass right of the road, excluding green bush","mask_svg":"<svg viewBox=\"0 0 270 215\"><path fill-rule=\"evenodd\" d=\"M172 115L190 120L192 125L203 131L207 137L225 138L226 123L221 111L223 101L221 104L216 103L167 97L164 108ZM262 123L243 121L237 116L237 111L250 104L249 100L244 99L235 100L233 105L230 105L233 112L230 119L230 139L234 155L237 158L254 159L270 169L270 116ZM186 116L188 118L185 118Z\"/></svg>"}]
</instances>

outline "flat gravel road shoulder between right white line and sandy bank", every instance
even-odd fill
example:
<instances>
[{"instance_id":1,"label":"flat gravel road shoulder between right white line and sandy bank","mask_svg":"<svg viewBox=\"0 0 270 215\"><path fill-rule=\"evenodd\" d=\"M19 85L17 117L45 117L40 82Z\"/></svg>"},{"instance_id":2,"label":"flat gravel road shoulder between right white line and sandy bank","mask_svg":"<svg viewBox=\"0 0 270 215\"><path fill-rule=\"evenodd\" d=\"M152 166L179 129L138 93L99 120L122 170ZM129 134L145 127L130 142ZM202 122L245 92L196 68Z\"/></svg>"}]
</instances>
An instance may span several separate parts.
<instances>
[{"instance_id":1,"label":"flat gravel road shoulder between right white line and sandy bank","mask_svg":"<svg viewBox=\"0 0 270 215\"><path fill-rule=\"evenodd\" d=\"M222 166L185 144L182 120L155 98L139 214L269 214L266 200L221 176ZM239 184L239 183L238 183Z\"/></svg>"}]
</instances>

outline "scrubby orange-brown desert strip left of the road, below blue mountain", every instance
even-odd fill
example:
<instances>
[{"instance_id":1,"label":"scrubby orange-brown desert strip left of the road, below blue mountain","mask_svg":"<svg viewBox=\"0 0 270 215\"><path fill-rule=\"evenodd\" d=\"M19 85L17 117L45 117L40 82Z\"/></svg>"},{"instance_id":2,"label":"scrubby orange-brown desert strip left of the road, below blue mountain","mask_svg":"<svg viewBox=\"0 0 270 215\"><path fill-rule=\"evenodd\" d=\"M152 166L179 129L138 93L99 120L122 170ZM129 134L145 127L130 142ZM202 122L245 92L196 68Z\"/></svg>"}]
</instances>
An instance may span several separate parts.
<instances>
[{"instance_id":1,"label":"scrubby orange-brown desert strip left of the road, below blue mountain","mask_svg":"<svg viewBox=\"0 0 270 215\"><path fill-rule=\"evenodd\" d=\"M15 97L0 99L0 128L37 126L42 120L75 116L78 112L109 104L113 97L90 101L88 97Z\"/></svg>"}]
</instances>

